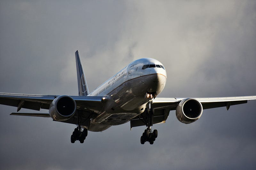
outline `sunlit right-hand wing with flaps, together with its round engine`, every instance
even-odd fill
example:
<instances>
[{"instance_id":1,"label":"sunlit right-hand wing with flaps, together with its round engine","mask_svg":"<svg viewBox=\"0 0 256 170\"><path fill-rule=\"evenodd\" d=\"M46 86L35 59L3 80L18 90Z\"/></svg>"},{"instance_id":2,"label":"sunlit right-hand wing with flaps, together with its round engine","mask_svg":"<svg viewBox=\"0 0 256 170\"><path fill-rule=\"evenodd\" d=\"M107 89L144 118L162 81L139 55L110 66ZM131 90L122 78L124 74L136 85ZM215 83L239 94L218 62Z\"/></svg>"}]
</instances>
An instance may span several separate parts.
<instances>
[{"instance_id":1,"label":"sunlit right-hand wing with flaps, together with its round engine","mask_svg":"<svg viewBox=\"0 0 256 170\"><path fill-rule=\"evenodd\" d=\"M230 106L247 103L248 100L256 100L256 96L219 98L156 98L151 104L151 107L154 108L153 124L164 123L171 110L178 109L176 110L176 112L178 111L178 115L176 113L176 116L179 121L183 123L191 123L196 121L202 115L202 109L227 107L228 110ZM201 111L200 107L202 108ZM147 125L147 118L148 117L145 112L133 118L131 120L131 128Z\"/></svg>"}]
</instances>

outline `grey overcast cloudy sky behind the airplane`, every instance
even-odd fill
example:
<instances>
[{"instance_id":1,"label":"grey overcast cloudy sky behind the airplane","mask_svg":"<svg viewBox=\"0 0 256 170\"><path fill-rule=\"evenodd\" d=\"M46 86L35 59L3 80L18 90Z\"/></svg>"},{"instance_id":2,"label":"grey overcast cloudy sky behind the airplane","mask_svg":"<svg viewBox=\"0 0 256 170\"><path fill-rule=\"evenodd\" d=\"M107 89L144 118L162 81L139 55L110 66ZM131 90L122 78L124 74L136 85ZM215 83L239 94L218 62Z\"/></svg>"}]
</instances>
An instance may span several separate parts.
<instances>
[{"instance_id":1,"label":"grey overcast cloudy sky behind the airplane","mask_svg":"<svg viewBox=\"0 0 256 170\"><path fill-rule=\"evenodd\" d=\"M77 95L77 49L90 91L151 57L167 72L159 97L256 95L256 1L0 2L0 92ZM0 169L255 169L255 106L204 110L188 125L172 111L141 145L145 127L71 144L75 125L0 105Z\"/></svg>"}]
</instances>

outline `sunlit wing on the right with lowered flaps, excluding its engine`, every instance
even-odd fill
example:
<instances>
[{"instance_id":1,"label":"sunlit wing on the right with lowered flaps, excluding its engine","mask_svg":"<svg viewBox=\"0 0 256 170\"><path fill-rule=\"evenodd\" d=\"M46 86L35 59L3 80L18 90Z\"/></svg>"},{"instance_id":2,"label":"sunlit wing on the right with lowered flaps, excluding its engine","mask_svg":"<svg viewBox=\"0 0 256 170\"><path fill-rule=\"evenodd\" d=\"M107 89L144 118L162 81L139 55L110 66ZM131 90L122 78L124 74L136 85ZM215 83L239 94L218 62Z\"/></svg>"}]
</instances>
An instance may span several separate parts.
<instances>
[{"instance_id":1,"label":"sunlit wing on the right with lowered flaps, excluding its engine","mask_svg":"<svg viewBox=\"0 0 256 170\"><path fill-rule=\"evenodd\" d=\"M153 124L164 123L169 116L171 110L176 110L179 103L187 98L156 98L153 100L151 107L154 108ZM213 97L213 98L193 98L198 100L203 109L227 107L227 110L232 105L247 103L248 100L256 100L256 96L241 96L241 97ZM143 120L145 113L133 118L131 120L131 128L136 126L145 126L146 122Z\"/></svg>"}]
</instances>

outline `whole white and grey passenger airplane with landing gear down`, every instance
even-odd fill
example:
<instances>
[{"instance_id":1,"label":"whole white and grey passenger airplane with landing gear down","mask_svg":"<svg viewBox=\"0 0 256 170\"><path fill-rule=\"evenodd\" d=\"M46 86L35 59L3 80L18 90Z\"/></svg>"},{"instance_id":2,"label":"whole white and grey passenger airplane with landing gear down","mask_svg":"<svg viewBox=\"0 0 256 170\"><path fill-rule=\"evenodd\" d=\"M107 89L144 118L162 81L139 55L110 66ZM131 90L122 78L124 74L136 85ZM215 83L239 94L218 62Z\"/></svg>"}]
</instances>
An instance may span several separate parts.
<instances>
[{"instance_id":1,"label":"whole white and grey passenger airplane with landing gear down","mask_svg":"<svg viewBox=\"0 0 256 170\"><path fill-rule=\"evenodd\" d=\"M0 104L17 107L10 115L51 117L53 121L75 124L70 141L84 143L88 130L99 132L130 121L131 129L146 126L140 143L153 144L158 136L151 126L165 123L170 111L185 124L195 122L204 109L226 107L256 100L256 96L214 98L159 98L166 84L166 70L152 58L128 64L102 85L89 92L78 50L75 52L78 96L0 93ZM49 113L19 113L21 108Z\"/></svg>"}]
</instances>

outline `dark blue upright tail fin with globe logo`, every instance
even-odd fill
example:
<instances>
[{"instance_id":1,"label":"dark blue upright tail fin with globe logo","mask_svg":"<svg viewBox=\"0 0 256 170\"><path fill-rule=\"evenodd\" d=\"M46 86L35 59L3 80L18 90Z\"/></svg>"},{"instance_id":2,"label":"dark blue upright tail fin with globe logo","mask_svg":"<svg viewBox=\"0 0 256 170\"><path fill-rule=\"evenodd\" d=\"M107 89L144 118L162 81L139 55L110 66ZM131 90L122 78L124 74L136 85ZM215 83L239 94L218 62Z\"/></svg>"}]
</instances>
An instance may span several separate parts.
<instances>
[{"instance_id":1,"label":"dark blue upright tail fin with globe logo","mask_svg":"<svg viewBox=\"0 0 256 170\"><path fill-rule=\"evenodd\" d=\"M78 95L79 96L87 96L89 94L86 79L84 76L83 66L79 57L78 50L75 52L76 54L76 73L77 73L77 84L78 84Z\"/></svg>"}]
</instances>

